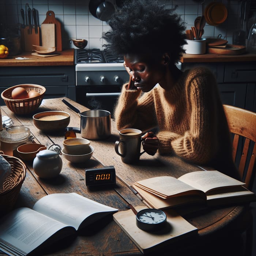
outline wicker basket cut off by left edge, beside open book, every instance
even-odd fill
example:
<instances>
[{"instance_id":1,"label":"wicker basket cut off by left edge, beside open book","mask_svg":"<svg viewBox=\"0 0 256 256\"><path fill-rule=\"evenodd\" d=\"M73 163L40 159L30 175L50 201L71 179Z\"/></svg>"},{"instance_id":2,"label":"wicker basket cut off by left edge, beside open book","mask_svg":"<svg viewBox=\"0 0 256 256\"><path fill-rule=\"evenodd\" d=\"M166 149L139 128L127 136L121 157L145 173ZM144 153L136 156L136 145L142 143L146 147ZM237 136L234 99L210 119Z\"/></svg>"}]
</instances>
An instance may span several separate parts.
<instances>
[{"instance_id":1,"label":"wicker basket cut off by left edge, beside open book","mask_svg":"<svg viewBox=\"0 0 256 256\"><path fill-rule=\"evenodd\" d=\"M20 188L26 177L26 165L19 158L2 155L11 165L11 174L0 189L0 216L11 211L18 198Z\"/></svg>"}]
</instances>

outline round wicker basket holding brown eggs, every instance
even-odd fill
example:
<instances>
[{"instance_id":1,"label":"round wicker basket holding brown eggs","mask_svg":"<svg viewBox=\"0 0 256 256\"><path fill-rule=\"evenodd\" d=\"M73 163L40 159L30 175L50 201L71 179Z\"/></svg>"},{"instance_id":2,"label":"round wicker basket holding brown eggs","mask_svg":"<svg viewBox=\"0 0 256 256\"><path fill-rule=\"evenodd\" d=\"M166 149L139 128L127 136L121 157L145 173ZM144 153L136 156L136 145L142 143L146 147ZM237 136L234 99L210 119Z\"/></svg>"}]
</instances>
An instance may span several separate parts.
<instances>
[{"instance_id":1,"label":"round wicker basket holding brown eggs","mask_svg":"<svg viewBox=\"0 0 256 256\"><path fill-rule=\"evenodd\" d=\"M12 99L12 90L16 87L23 87L27 92L34 90L40 95L26 99ZM34 112L40 106L46 89L38 84L18 84L12 86L1 93L5 105L15 114L29 114Z\"/></svg>"}]
</instances>

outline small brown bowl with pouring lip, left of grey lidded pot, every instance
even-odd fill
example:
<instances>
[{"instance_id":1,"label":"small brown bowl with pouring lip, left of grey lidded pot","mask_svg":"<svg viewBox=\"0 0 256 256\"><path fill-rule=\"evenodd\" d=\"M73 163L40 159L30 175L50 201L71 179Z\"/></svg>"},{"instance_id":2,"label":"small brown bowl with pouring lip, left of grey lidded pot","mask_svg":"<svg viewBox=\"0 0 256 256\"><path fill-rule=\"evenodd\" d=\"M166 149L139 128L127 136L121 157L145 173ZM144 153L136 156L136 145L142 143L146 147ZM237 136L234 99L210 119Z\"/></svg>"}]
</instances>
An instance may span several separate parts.
<instances>
[{"instance_id":1,"label":"small brown bowl with pouring lip, left of grey lidded pot","mask_svg":"<svg viewBox=\"0 0 256 256\"><path fill-rule=\"evenodd\" d=\"M33 161L37 153L41 150L46 149L46 146L38 143L27 143L19 146L17 151L20 158L25 161Z\"/></svg>"}]
</instances>

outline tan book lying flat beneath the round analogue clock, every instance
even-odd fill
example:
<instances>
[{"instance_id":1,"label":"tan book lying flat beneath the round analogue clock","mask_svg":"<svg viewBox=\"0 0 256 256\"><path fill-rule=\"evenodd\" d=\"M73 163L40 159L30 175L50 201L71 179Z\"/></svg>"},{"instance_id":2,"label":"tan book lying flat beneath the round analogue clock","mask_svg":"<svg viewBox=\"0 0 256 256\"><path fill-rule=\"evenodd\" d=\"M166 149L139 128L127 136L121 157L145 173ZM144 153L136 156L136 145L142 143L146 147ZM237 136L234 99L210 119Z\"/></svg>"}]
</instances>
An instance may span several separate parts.
<instances>
[{"instance_id":1,"label":"tan book lying flat beneath the round analogue clock","mask_svg":"<svg viewBox=\"0 0 256 256\"><path fill-rule=\"evenodd\" d=\"M146 207L135 207L137 211L144 208ZM142 253L146 254L157 251L158 255L161 255L161 252L159 252L161 248L173 243L174 246L177 246L178 241L184 242L185 238L191 239L197 235L197 228L172 209L166 210L165 214L167 217L166 227L163 230L154 232L139 229L136 226L136 215L132 210L116 212L113 214L113 219Z\"/></svg>"}]
</instances>

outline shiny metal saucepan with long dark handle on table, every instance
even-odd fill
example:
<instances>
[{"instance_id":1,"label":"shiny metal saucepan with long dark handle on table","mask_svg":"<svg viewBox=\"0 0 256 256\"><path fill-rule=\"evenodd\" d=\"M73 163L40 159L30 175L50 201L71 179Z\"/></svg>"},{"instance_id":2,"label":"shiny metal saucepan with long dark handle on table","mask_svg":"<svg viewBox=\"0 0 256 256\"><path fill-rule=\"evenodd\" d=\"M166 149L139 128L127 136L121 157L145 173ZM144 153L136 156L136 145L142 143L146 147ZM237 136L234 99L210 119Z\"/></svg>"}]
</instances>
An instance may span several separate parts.
<instances>
[{"instance_id":1,"label":"shiny metal saucepan with long dark handle on table","mask_svg":"<svg viewBox=\"0 0 256 256\"><path fill-rule=\"evenodd\" d=\"M80 129L84 139L101 140L106 139L111 134L111 117L107 110L94 109L80 113L79 109L75 108L65 99L62 101L76 113L80 114Z\"/></svg>"}]
</instances>

